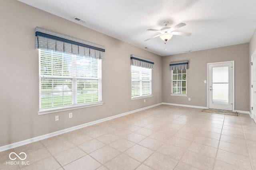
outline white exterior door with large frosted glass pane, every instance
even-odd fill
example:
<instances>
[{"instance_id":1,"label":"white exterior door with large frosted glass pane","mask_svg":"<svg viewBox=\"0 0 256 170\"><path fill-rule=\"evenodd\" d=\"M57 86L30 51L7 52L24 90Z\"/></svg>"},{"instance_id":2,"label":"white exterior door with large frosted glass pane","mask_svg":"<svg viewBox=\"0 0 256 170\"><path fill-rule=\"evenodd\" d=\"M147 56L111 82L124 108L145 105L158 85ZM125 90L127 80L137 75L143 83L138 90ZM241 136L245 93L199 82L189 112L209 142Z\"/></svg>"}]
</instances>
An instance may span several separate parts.
<instances>
[{"instance_id":1,"label":"white exterior door with large frosted glass pane","mask_svg":"<svg viewBox=\"0 0 256 170\"><path fill-rule=\"evenodd\" d=\"M234 61L207 65L208 108L234 111Z\"/></svg>"}]
</instances>

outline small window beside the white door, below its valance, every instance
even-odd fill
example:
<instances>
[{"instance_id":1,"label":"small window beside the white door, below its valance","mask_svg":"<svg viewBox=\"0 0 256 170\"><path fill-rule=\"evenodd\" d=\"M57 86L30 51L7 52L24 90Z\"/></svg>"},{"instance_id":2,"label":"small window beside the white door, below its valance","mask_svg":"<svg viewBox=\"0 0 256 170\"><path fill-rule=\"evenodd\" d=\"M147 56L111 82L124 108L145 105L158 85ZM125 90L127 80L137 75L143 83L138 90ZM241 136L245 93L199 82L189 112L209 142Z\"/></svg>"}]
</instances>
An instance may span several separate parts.
<instances>
[{"instance_id":1,"label":"small window beside the white door, below its valance","mask_svg":"<svg viewBox=\"0 0 256 170\"><path fill-rule=\"evenodd\" d=\"M172 70L172 94L187 94L187 70Z\"/></svg>"}]
</instances>

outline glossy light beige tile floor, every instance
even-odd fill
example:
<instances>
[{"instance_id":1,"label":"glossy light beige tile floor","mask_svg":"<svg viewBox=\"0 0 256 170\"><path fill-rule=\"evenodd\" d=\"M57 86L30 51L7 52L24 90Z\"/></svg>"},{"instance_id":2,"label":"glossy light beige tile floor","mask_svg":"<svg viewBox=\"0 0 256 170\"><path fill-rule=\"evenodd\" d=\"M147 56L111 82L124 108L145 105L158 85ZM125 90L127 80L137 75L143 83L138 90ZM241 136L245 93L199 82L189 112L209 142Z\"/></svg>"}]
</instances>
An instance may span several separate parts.
<instances>
[{"instance_id":1,"label":"glossy light beige tile floor","mask_svg":"<svg viewBox=\"0 0 256 170\"><path fill-rule=\"evenodd\" d=\"M256 170L256 124L160 105L0 152L4 170ZM25 152L29 165L6 165Z\"/></svg>"}]
</instances>

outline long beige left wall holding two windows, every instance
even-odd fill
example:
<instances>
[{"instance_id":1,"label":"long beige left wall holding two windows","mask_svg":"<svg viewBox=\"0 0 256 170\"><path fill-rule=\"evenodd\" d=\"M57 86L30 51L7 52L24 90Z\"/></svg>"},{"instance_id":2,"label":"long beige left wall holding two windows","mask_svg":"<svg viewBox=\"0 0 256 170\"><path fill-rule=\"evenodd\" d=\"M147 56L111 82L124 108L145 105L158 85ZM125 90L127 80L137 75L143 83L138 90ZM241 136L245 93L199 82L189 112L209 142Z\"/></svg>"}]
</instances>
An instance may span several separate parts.
<instances>
[{"instance_id":1,"label":"long beige left wall holding two windows","mask_svg":"<svg viewBox=\"0 0 256 170\"><path fill-rule=\"evenodd\" d=\"M48 134L162 102L162 59L92 29L64 20L16 0L0 2L0 146ZM36 26L104 45L102 106L68 113L38 115L38 50ZM155 62L152 98L131 100L130 55ZM59 121L54 116L59 115Z\"/></svg>"}]
</instances>

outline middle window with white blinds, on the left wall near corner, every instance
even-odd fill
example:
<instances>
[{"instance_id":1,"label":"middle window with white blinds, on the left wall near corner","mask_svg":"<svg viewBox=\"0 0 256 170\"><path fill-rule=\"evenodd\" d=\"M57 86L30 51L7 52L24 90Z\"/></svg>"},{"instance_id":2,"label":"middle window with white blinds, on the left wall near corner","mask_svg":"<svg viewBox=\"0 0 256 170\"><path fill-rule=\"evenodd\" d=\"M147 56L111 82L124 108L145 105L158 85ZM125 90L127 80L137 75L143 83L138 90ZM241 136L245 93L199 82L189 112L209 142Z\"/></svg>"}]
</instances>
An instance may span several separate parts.
<instances>
[{"instance_id":1,"label":"middle window with white blinds, on the left wall near corner","mask_svg":"<svg viewBox=\"0 0 256 170\"><path fill-rule=\"evenodd\" d=\"M152 95L152 69L131 66L132 70L132 99Z\"/></svg>"}]
</instances>

